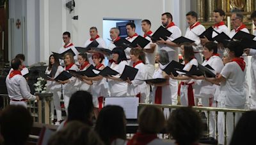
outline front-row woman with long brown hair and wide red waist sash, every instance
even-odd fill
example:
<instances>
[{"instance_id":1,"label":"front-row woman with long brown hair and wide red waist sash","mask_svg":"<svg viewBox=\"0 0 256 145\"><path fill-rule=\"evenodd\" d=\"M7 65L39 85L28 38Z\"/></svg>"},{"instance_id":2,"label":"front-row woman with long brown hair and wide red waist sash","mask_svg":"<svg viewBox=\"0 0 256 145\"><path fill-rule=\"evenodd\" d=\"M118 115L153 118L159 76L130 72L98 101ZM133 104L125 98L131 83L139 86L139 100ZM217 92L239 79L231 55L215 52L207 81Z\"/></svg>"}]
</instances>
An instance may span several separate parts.
<instances>
[{"instance_id":1,"label":"front-row woman with long brown hair and wide red waist sash","mask_svg":"<svg viewBox=\"0 0 256 145\"><path fill-rule=\"evenodd\" d=\"M181 45L180 52L182 57L184 58L184 71L190 71L191 67L198 66L198 62L195 59L193 47L191 45ZM180 104L182 106L195 106L195 99L194 99L194 91L193 91L193 84L195 81L188 76L178 75L173 76L170 74L170 78L182 80L180 82Z\"/></svg>"}]
</instances>

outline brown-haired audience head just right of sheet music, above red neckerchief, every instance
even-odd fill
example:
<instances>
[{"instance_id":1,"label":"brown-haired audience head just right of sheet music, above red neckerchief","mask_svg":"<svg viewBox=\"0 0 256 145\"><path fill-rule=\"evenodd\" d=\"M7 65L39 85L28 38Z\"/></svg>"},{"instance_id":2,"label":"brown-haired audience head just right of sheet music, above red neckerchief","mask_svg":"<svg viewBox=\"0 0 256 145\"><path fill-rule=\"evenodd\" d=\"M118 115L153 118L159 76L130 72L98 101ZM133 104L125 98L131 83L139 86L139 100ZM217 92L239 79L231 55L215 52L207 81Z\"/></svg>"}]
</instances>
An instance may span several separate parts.
<instances>
[{"instance_id":1,"label":"brown-haired audience head just right of sheet music, above red neckerchief","mask_svg":"<svg viewBox=\"0 0 256 145\"><path fill-rule=\"evenodd\" d=\"M140 111L139 130L143 134L157 134L166 125L163 111L156 106L146 106Z\"/></svg>"}]
</instances>

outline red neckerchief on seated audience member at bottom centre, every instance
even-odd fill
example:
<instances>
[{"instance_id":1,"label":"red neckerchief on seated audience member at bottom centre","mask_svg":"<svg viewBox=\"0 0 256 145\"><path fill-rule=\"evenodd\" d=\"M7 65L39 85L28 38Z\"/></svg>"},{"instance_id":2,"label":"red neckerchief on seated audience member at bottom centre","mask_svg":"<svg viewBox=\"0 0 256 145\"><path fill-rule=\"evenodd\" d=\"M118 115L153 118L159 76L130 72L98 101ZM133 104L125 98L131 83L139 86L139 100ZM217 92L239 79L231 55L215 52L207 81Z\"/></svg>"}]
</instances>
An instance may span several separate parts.
<instances>
[{"instance_id":1,"label":"red neckerchief on seated audience member at bottom centre","mask_svg":"<svg viewBox=\"0 0 256 145\"><path fill-rule=\"evenodd\" d=\"M154 139L157 139L156 134L143 134L137 132L133 135L132 139L127 142L127 145L146 145Z\"/></svg>"}]
</instances>

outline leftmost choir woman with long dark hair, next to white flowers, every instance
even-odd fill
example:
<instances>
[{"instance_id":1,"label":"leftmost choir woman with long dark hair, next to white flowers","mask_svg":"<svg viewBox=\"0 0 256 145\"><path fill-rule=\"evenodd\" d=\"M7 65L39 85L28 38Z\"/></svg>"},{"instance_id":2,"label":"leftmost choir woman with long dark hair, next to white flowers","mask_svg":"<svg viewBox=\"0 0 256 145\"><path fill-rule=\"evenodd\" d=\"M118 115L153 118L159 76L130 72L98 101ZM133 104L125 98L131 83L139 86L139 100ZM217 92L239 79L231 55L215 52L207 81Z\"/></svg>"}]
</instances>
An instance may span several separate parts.
<instances>
[{"instance_id":1,"label":"leftmost choir woman with long dark hair, next to white flowers","mask_svg":"<svg viewBox=\"0 0 256 145\"><path fill-rule=\"evenodd\" d=\"M49 75L51 78L56 78L63 71L63 67L60 66L59 59L54 55L49 57L49 66L45 70L45 74ZM54 81L54 79L47 80L47 92L53 93L53 103L51 104L51 120L54 120L54 107L56 110L57 121L55 125L60 125L61 121L61 84ZM54 105L54 106L53 106Z\"/></svg>"}]
</instances>

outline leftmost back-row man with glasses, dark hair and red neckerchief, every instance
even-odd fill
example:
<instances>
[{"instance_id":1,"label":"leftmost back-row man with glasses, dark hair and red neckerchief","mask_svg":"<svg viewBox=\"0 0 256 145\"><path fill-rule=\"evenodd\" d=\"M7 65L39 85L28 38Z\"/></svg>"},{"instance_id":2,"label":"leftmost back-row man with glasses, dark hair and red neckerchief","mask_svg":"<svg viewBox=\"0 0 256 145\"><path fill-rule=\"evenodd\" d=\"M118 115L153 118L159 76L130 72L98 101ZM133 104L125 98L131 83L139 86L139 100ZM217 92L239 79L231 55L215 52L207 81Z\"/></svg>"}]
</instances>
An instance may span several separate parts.
<instances>
[{"instance_id":1,"label":"leftmost back-row man with glasses, dark hair and red neckerchief","mask_svg":"<svg viewBox=\"0 0 256 145\"><path fill-rule=\"evenodd\" d=\"M79 52L77 52L77 50L76 50L75 46L73 45L73 43L70 43L70 39L71 39L70 38L70 32L63 32L62 38L63 38L64 45L61 46L61 48L59 50L59 53L63 53L63 52L66 52L69 49L72 49L72 51L76 54L74 56L75 62L78 63L77 55L79 54ZM60 64L61 64L61 66L64 66L64 61L60 60Z\"/></svg>"}]
</instances>

